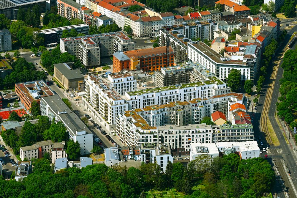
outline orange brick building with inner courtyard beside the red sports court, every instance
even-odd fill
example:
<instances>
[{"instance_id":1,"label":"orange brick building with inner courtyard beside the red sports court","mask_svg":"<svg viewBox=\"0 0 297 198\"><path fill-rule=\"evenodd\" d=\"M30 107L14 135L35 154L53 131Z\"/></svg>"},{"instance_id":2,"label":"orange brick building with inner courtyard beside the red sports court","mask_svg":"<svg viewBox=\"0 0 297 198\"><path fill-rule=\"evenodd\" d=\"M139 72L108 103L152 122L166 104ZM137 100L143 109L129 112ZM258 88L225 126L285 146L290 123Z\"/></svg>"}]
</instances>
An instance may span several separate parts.
<instances>
[{"instance_id":1,"label":"orange brick building with inner courtyard beside the red sports court","mask_svg":"<svg viewBox=\"0 0 297 198\"><path fill-rule=\"evenodd\" d=\"M25 109L31 109L31 103L35 100L40 104L40 98L48 95L55 95L45 81L30 81L15 84L15 93L20 96L20 102Z\"/></svg>"}]
</instances>

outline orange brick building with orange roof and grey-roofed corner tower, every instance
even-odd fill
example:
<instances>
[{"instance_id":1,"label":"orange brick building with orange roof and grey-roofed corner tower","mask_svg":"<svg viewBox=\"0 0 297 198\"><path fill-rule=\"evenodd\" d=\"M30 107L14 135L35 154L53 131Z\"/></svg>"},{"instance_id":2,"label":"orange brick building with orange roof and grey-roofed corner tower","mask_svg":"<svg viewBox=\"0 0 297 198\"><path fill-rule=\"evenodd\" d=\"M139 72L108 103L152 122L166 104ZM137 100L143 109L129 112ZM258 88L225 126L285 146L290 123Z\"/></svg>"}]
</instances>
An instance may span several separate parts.
<instances>
[{"instance_id":1,"label":"orange brick building with orange roof and grey-roofed corner tower","mask_svg":"<svg viewBox=\"0 0 297 198\"><path fill-rule=\"evenodd\" d=\"M169 49L170 66L174 65L174 53ZM122 70L159 71L166 67L166 47L118 51L113 54L113 73Z\"/></svg>"}]
</instances>

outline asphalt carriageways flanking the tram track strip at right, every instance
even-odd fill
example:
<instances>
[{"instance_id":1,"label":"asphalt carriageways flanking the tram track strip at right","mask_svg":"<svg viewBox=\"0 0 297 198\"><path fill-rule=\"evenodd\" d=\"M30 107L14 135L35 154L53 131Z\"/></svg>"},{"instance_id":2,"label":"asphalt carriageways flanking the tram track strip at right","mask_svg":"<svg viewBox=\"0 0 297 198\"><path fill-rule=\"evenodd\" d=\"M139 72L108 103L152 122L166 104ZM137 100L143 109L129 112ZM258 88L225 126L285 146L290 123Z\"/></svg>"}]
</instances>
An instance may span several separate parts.
<instances>
[{"instance_id":1,"label":"asphalt carriageways flanking the tram track strip at right","mask_svg":"<svg viewBox=\"0 0 297 198\"><path fill-rule=\"evenodd\" d=\"M285 37L285 40L283 42L283 46L281 46L277 51L276 51L276 56L275 56L275 59L279 58L278 56L279 53L281 52L281 50L285 47L284 45L287 45L287 42L290 38L290 36L293 34L293 32L295 32L297 30L297 26L295 26L294 28L290 29L287 33L287 36ZM282 63L282 61L280 62L280 64ZM268 75L267 76L270 76L271 73L272 73L272 70L268 71ZM290 146L286 143L285 139L284 139L284 136L282 134L282 130L279 128L276 120L275 120L275 111L276 111L276 102L278 101L278 97L279 97L279 79L282 78L282 73L283 73L283 69L281 67L278 68L278 71L277 71L277 76L276 76L276 79L275 79L275 84L274 84L274 87L273 87L273 92L272 92L272 96L271 96L271 104L270 106L268 107L269 108L269 111L268 111L268 118L272 124L272 127L277 135L277 138L279 139L279 142L280 142L280 146L277 146L275 147L274 145L269 145L267 142L266 142L266 139L265 139L265 134L260 130L260 124L259 124L259 121L260 121L260 117L261 117L261 112L263 111L263 103L265 101L265 96L266 96L266 93L267 93L267 89L269 86L271 86L271 83L272 83L272 80L270 78L267 78L266 81L265 81L265 86L263 87L263 90L262 90L262 95L261 97L259 98L259 105L258 105L258 109L257 111L255 112L255 122L253 123L254 125L254 131L255 131L255 136L256 138L258 139L259 137L261 137L261 141L264 143L264 147L269 147L267 153L263 153L261 156L263 157L265 154L268 155L268 161L270 162L270 164L272 166L277 166L278 170L279 170L279 173L280 175L282 176L282 179L281 178L278 178L277 177L277 182L276 182L276 186L275 188L273 189L274 190L274 193L276 193L277 196L279 197L286 197L285 193L282 191L283 188L282 188L282 182L284 182L285 186L287 187L288 189L288 192L289 192L289 195L290 197L296 197L295 194L294 194L294 191L292 188L288 188L288 186L292 186L289 179L287 178L287 175L286 175L286 171L283 167L283 164L284 163L288 163L289 164L289 169L292 173L292 182L294 183L293 185L294 186L297 186L297 183L296 183L296 179L297 179L297 166L296 166L296 156L295 156L295 153L294 151L292 150L292 148L290 148ZM258 137L257 137L258 136ZM284 162L284 163L283 163ZM273 164L274 163L274 164ZM273 167L274 168L274 167ZM278 174L276 174L278 175ZM281 192L281 193L280 193Z\"/></svg>"}]
</instances>

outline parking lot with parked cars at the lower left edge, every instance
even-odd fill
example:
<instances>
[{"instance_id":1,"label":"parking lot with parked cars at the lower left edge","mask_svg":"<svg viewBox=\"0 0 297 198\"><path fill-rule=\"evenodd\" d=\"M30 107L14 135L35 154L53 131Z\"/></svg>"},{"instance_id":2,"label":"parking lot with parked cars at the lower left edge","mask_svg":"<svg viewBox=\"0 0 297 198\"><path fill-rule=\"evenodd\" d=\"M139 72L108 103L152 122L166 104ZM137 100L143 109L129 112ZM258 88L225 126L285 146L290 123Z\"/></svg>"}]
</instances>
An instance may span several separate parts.
<instances>
[{"instance_id":1,"label":"parking lot with parked cars at the lower left edge","mask_svg":"<svg viewBox=\"0 0 297 198\"><path fill-rule=\"evenodd\" d=\"M3 145L3 141L0 141L0 144ZM14 155L12 154L12 150L9 147L7 147L5 145L3 145L3 146L4 147L2 147L2 148L6 148L6 150L8 150L9 153L12 155L11 157L5 157L4 152L2 150L0 150L1 161L2 160L4 161L4 164L2 164L2 170L4 173L3 176L5 177L5 179L7 179L7 178L10 178L12 172L15 171L15 166L12 166L12 164L10 163L10 159L14 159L15 162L17 161L17 159L16 159L16 157L14 157Z\"/></svg>"}]
</instances>

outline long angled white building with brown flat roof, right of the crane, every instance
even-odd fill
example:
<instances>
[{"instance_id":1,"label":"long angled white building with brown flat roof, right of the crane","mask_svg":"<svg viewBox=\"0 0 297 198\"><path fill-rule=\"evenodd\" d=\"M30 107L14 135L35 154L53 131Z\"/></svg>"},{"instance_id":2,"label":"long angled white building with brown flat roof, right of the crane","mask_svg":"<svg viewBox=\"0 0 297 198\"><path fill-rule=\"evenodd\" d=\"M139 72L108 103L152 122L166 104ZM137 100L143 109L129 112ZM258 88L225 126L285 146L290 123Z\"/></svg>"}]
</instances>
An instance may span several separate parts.
<instances>
[{"instance_id":1,"label":"long angled white building with brown flat roof, right of the crane","mask_svg":"<svg viewBox=\"0 0 297 198\"><path fill-rule=\"evenodd\" d=\"M220 79L228 78L231 69L241 71L241 80L253 80L257 71L257 57L255 51L246 51L242 60L232 60L224 57L203 42L188 42L188 61L199 62ZM258 48L256 48L256 53Z\"/></svg>"}]
</instances>

